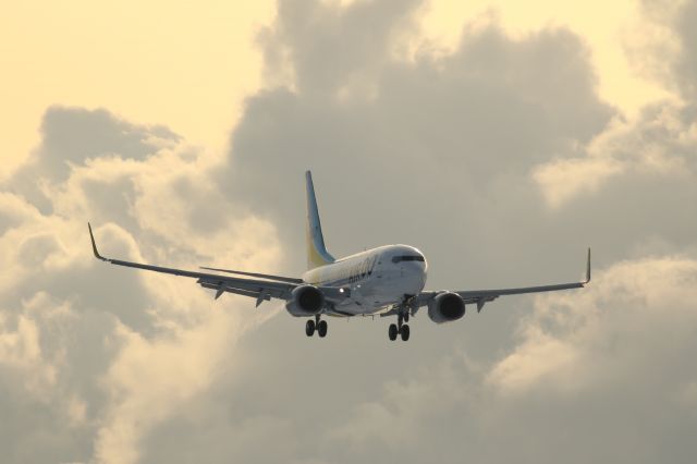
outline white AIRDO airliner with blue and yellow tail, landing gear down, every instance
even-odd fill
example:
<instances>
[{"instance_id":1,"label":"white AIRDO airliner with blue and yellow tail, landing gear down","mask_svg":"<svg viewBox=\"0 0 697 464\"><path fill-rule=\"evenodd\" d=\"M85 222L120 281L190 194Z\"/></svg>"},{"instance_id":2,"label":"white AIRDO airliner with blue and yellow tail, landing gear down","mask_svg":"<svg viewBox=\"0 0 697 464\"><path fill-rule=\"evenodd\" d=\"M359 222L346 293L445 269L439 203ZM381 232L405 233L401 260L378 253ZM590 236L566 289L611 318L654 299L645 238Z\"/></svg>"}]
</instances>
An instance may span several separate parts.
<instances>
[{"instance_id":1,"label":"white AIRDO airliner with blue and yellow tail, landing gear down","mask_svg":"<svg viewBox=\"0 0 697 464\"><path fill-rule=\"evenodd\" d=\"M399 335L407 341L409 317L416 316L421 307L427 308L433 322L452 322L465 315L467 305L476 305L477 313L480 313L486 303L499 296L580 289L590 282L588 248L586 280L583 282L516 289L424 291L428 264L424 254L413 246L386 245L335 259L325 246L310 171L305 173L305 182L308 270L299 278L210 267L200 269L217 273L189 271L105 258L97 251L88 222L94 255L115 266L197 279L199 285L216 292L216 300L223 293L233 293L256 298L257 307L271 298L281 300L292 316L308 318L305 323L307 337L317 332L320 338L327 335L328 329L322 316L395 316L396 323L389 326L388 337L394 341Z\"/></svg>"}]
</instances>

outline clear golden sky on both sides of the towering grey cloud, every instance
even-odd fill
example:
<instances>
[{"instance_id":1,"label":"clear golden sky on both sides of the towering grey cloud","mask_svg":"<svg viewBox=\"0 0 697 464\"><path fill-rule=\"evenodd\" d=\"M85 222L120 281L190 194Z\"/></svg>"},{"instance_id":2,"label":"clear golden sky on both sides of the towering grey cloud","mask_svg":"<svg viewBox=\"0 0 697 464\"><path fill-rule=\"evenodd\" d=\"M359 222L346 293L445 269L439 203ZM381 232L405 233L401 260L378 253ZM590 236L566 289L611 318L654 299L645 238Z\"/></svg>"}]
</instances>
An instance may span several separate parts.
<instances>
[{"instance_id":1,"label":"clear golden sky on both sides of the towering grey cloud","mask_svg":"<svg viewBox=\"0 0 697 464\"><path fill-rule=\"evenodd\" d=\"M0 174L36 146L41 114L51 105L103 107L132 121L168 125L207 150L224 148L244 97L262 84L254 40L274 10L271 0L5 4ZM626 41L640 27L632 0L435 0L423 11L423 38L452 47L464 24L488 12L512 35L566 26L582 36L600 96L627 113L665 95L627 62Z\"/></svg>"}]
</instances>

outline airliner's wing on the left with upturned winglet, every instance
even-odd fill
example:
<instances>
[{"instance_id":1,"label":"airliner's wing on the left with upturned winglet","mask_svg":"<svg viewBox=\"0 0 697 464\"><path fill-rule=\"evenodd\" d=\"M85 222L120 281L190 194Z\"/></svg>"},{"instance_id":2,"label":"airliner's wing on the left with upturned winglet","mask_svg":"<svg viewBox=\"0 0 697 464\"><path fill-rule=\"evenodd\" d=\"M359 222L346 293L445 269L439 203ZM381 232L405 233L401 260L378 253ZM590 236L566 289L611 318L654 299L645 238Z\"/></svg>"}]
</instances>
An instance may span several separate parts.
<instances>
[{"instance_id":1,"label":"airliner's wing on the left with upturned winglet","mask_svg":"<svg viewBox=\"0 0 697 464\"><path fill-rule=\"evenodd\" d=\"M291 279L283 278L284 281L271 280L273 278L279 278L279 276L266 276L261 273L254 273L256 277L261 277L266 279L243 279L237 277L229 277L229 276L220 276L216 273L208 272L196 272L188 271L184 269L175 269L175 268L167 268L161 266L151 266L145 265L140 262L133 261L124 261L121 259L111 259L106 258L99 254L97 249L97 244L95 243L95 236L91 232L91 225L87 223L87 228L89 229L89 239L91 240L91 249L97 259L101 259L102 261L115 265L115 266L124 266L129 268L149 270L155 272L169 273L173 276L188 277L193 279L197 279L196 283L201 285L205 289L216 290L216 300L220 297L223 293L234 293L237 295L250 296L257 298L257 306L261 304L264 301L268 301L271 298L279 298L288 301L291 297L291 292L293 289L303 283L299 279ZM247 274L252 274L248 272ZM268 280L267 280L268 279ZM332 301L345 297L343 292L339 292L340 289L334 288L319 288L325 296Z\"/></svg>"}]
</instances>

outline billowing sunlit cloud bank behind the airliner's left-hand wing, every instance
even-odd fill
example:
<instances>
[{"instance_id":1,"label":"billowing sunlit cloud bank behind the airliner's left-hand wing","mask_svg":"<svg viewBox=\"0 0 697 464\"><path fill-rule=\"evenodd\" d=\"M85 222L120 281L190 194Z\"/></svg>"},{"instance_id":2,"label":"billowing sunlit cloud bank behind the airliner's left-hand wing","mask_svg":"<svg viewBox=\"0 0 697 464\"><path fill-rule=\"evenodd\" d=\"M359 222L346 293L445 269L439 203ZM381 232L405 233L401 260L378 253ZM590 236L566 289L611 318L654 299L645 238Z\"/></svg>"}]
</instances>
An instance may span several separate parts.
<instances>
[{"instance_id":1,"label":"billowing sunlit cloud bank behind the airliner's left-hand wing","mask_svg":"<svg viewBox=\"0 0 697 464\"><path fill-rule=\"evenodd\" d=\"M184 267L269 267L276 232L206 187L209 162L167 129L54 107L42 134L0 196L1 445L8 462L137 462L148 430L264 318L97 261L87 220L106 255Z\"/></svg>"}]
</instances>

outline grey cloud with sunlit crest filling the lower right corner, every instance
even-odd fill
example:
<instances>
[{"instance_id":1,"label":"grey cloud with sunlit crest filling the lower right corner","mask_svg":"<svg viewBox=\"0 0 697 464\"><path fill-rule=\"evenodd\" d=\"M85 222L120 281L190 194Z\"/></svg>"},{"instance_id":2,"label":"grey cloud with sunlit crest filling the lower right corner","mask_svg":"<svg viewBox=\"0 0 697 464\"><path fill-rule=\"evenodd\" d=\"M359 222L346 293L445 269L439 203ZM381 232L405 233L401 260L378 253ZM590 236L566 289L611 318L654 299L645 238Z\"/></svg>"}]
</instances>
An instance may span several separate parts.
<instances>
[{"instance_id":1,"label":"grey cloud with sunlit crest filling the lower right corner","mask_svg":"<svg viewBox=\"0 0 697 464\"><path fill-rule=\"evenodd\" d=\"M696 279L685 257L619 262L584 293L538 297L500 359L448 354L327 435L341 462L690 462Z\"/></svg>"}]
</instances>

